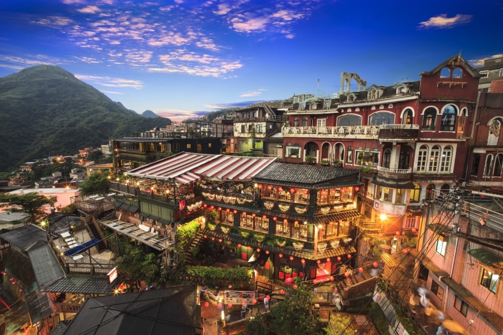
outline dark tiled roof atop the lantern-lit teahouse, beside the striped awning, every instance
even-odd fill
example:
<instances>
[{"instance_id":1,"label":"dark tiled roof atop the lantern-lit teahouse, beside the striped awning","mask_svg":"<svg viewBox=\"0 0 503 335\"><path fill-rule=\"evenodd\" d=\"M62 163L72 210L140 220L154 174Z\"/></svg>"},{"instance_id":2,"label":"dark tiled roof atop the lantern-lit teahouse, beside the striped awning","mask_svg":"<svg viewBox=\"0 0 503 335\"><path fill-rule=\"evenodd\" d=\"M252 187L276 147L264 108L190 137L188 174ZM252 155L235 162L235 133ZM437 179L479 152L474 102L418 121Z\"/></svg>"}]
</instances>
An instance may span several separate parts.
<instances>
[{"instance_id":1,"label":"dark tiled roof atop the lantern-lit teahouse, beside the striped awning","mask_svg":"<svg viewBox=\"0 0 503 335\"><path fill-rule=\"evenodd\" d=\"M358 174L359 171L355 169L275 163L259 172L255 181L280 186L305 185L305 188L316 188L316 184L336 182L353 182L353 185L359 185Z\"/></svg>"}]
</instances>

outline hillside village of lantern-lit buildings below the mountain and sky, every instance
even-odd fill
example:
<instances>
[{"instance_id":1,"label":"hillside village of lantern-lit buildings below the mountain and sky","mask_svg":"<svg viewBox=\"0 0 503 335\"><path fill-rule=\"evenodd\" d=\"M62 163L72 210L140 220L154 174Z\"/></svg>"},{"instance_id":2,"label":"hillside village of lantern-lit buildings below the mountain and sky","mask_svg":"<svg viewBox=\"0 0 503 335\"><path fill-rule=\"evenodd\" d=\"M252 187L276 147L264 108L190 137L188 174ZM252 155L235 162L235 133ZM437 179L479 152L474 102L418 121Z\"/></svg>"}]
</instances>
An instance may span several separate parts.
<instances>
[{"instance_id":1,"label":"hillside village of lantern-lit buildings below the mountain and sky","mask_svg":"<svg viewBox=\"0 0 503 335\"><path fill-rule=\"evenodd\" d=\"M159 297L158 310L183 307L114 319L109 331L178 322L185 333L238 333L245 313L274 315L269 303L301 284L309 315L328 327L341 314L358 333L502 333L501 59L475 69L454 55L390 86L343 72L337 94L295 94L27 162L0 192L61 188L67 203L54 195L47 227L0 232L3 254L33 268L23 282L7 266L4 287L38 311L23 322L4 311L7 333L98 329L96 309L117 303L129 315L132 301L141 309ZM110 162L87 159L97 150ZM63 161L79 167L27 180ZM108 176L107 190L79 192L94 173ZM79 230L60 215L66 206ZM155 278L121 273L117 241L154 254ZM208 267L247 272L210 278Z\"/></svg>"}]
</instances>

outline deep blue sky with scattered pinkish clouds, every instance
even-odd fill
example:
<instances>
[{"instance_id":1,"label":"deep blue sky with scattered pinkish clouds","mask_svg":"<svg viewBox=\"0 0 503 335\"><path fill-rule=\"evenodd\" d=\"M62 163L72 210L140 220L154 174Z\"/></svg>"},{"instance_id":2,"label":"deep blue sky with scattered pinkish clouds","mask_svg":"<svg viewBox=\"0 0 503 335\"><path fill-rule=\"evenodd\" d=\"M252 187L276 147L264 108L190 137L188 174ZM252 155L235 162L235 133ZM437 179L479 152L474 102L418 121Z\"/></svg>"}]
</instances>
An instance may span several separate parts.
<instances>
[{"instance_id":1,"label":"deep blue sky with scattered pinkish clouds","mask_svg":"<svg viewBox=\"0 0 503 335\"><path fill-rule=\"evenodd\" d=\"M202 111L417 80L461 52L502 56L503 2L3 0L0 76L58 65L174 121ZM319 79L319 82L318 82Z\"/></svg>"}]
</instances>

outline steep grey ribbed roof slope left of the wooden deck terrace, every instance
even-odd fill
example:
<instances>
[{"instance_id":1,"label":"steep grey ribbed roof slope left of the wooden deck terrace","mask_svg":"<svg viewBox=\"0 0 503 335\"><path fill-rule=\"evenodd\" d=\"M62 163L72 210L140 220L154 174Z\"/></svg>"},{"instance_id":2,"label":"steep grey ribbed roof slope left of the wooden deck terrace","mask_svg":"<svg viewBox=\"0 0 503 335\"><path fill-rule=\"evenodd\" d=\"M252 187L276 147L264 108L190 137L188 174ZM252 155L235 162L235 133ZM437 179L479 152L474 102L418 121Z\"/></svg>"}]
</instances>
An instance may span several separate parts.
<instances>
[{"instance_id":1,"label":"steep grey ribbed roof slope left of the wooden deck terrace","mask_svg":"<svg viewBox=\"0 0 503 335\"><path fill-rule=\"evenodd\" d=\"M31 250L28 253L32 264L37 285L43 288L64 277L63 269L59 265L49 245Z\"/></svg>"}]
</instances>

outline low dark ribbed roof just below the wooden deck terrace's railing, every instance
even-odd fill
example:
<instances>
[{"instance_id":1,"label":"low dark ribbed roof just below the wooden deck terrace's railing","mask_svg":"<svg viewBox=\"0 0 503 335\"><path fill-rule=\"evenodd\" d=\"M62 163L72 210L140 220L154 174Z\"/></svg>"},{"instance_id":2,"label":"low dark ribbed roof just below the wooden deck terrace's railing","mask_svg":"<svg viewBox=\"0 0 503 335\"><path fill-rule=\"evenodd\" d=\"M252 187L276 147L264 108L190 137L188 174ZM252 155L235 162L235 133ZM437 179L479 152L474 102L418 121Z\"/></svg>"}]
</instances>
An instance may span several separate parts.
<instances>
[{"instance_id":1,"label":"low dark ribbed roof just below the wooden deck terrace's railing","mask_svg":"<svg viewBox=\"0 0 503 335\"><path fill-rule=\"evenodd\" d=\"M42 292L65 292L80 294L112 294L114 285L109 284L108 277L70 275L46 288Z\"/></svg>"}]
</instances>

